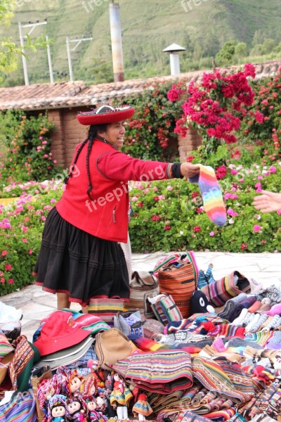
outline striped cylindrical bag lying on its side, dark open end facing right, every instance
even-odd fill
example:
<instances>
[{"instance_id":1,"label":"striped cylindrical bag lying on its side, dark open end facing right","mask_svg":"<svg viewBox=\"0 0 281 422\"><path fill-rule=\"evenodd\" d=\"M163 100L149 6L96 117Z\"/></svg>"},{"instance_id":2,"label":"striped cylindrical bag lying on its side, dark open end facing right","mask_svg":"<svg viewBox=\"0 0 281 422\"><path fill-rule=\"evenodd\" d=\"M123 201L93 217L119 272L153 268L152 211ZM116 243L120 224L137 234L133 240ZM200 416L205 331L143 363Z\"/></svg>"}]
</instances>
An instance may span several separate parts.
<instances>
[{"instance_id":1,"label":"striped cylindrical bag lying on its side, dark open end facing right","mask_svg":"<svg viewBox=\"0 0 281 422\"><path fill-rule=\"evenodd\" d=\"M239 271L233 271L228 276L223 277L221 280L214 281L201 288L209 301L214 307L224 305L229 299L235 298L240 293L249 293L251 285L249 280L240 274Z\"/></svg>"}]
</instances>

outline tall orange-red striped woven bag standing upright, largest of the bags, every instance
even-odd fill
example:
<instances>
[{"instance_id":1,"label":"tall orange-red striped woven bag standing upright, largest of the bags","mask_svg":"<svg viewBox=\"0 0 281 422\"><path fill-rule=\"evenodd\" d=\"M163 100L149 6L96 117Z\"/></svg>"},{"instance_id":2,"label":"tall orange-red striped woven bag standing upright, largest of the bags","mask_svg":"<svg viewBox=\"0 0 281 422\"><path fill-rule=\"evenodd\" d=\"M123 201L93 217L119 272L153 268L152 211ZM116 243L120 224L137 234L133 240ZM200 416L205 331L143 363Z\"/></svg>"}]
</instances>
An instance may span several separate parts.
<instances>
[{"instance_id":1,"label":"tall orange-red striped woven bag standing upright, largest of the bags","mask_svg":"<svg viewBox=\"0 0 281 422\"><path fill-rule=\"evenodd\" d=\"M190 316L190 298L197 286L197 276L194 256L190 256L189 262L185 262L182 257L158 269L160 293L172 296L183 318Z\"/></svg>"}]
</instances>

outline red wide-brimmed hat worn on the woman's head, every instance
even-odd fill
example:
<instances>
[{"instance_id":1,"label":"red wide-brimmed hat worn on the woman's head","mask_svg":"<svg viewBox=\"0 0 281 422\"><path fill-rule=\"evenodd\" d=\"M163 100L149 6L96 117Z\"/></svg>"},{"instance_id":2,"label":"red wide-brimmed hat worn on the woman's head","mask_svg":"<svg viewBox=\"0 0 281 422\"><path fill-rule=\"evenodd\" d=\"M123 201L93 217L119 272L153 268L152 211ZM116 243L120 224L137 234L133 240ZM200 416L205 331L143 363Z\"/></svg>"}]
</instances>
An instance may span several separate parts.
<instances>
[{"instance_id":1,"label":"red wide-brimmed hat worn on the woman's head","mask_svg":"<svg viewBox=\"0 0 281 422\"><path fill-rule=\"evenodd\" d=\"M89 126L91 124L122 122L132 117L133 113L135 113L135 109L131 106L115 108L112 106L101 106L92 111L80 111L77 119L79 123Z\"/></svg>"}]
</instances>

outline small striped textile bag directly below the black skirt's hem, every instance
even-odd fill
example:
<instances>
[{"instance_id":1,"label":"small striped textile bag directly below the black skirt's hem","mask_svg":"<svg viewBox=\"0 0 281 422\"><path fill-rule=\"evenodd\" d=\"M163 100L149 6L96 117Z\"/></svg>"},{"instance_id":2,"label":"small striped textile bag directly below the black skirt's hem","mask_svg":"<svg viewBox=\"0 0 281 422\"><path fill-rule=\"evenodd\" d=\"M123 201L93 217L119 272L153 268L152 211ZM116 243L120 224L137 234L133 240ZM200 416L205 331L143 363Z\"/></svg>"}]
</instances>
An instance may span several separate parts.
<instances>
[{"instance_id":1,"label":"small striped textile bag directly below the black skirt's hem","mask_svg":"<svg viewBox=\"0 0 281 422\"><path fill-rule=\"evenodd\" d=\"M102 321L105 321L110 328L113 328L113 318L117 312L124 310L124 300L122 299L91 299L89 302L89 314L95 314Z\"/></svg>"}]
</instances>

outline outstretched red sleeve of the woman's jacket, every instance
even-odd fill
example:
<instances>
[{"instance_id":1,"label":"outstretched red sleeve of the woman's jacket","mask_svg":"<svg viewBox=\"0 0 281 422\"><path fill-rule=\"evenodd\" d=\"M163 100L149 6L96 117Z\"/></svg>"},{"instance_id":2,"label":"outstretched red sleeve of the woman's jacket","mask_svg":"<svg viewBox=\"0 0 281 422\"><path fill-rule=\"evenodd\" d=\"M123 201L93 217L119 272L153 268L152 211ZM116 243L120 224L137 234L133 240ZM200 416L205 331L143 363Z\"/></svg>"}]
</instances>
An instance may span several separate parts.
<instances>
[{"instance_id":1,"label":"outstretched red sleeve of the woman's jacket","mask_svg":"<svg viewBox=\"0 0 281 422\"><path fill-rule=\"evenodd\" d=\"M111 180L171 179L171 163L138 160L119 151L101 154L96 162L98 171Z\"/></svg>"}]
</instances>

